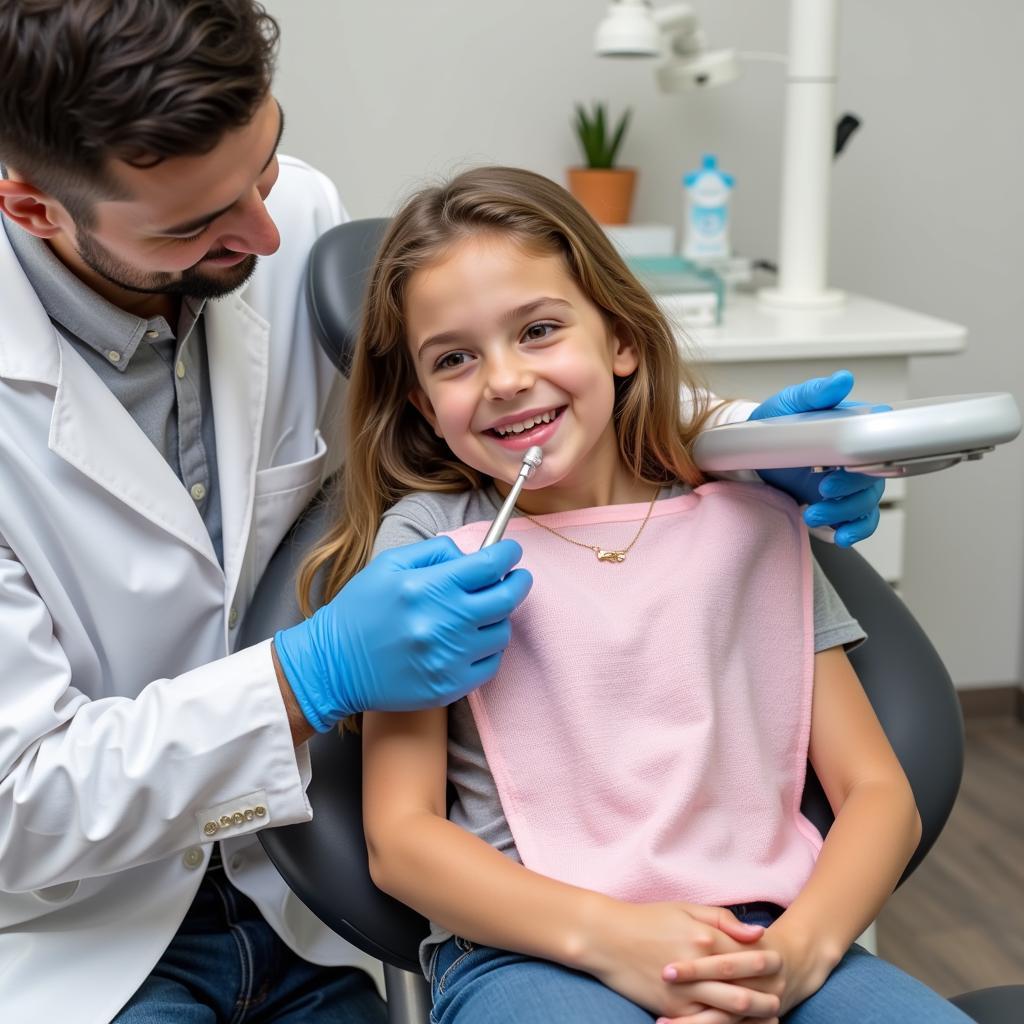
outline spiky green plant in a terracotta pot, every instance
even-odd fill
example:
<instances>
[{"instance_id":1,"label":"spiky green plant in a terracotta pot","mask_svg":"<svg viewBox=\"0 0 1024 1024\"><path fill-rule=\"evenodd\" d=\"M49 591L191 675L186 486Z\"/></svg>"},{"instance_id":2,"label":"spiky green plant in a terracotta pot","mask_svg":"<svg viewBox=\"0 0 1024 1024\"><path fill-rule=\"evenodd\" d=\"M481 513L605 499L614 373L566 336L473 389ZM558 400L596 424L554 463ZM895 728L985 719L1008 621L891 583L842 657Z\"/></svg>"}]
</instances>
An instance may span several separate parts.
<instances>
[{"instance_id":1,"label":"spiky green plant in a terracotta pot","mask_svg":"<svg viewBox=\"0 0 1024 1024\"><path fill-rule=\"evenodd\" d=\"M625 224L630 219L637 172L615 167L630 113L626 110L612 127L604 103L594 103L591 112L577 103L574 127L586 167L569 168L569 191L600 224Z\"/></svg>"}]
</instances>

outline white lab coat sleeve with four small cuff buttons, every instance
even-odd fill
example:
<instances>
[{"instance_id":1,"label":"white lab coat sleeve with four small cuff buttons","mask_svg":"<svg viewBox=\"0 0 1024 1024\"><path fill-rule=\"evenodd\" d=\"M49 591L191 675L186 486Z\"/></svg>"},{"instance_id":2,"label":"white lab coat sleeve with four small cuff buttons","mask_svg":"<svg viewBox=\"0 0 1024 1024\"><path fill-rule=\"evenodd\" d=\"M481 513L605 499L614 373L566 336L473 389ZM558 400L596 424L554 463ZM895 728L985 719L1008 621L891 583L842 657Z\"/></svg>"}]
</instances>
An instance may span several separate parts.
<instances>
[{"instance_id":1,"label":"white lab coat sleeve with four small cuff buttons","mask_svg":"<svg viewBox=\"0 0 1024 1024\"><path fill-rule=\"evenodd\" d=\"M310 816L269 641L147 682L134 699L90 699L0 539L0 890Z\"/></svg>"}]
</instances>

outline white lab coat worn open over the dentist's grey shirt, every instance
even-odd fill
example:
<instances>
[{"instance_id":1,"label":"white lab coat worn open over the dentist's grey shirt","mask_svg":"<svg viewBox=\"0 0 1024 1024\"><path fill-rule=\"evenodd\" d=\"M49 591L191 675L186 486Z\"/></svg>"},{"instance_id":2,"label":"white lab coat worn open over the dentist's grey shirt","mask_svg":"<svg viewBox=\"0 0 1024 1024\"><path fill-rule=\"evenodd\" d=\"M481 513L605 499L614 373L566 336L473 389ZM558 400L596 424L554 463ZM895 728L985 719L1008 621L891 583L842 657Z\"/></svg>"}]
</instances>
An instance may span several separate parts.
<instances>
[{"instance_id":1,"label":"white lab coat worn open over the dentist's grey shirt","mask_svg":"<svg viewBox=\"0 0 1024 1024\"><path fill-rule=\"evenodd\" d=\"M160 453L51 326L0 230L0 1018L110 1021L203 877L228 878L297 952L374 962L289 892L253 833L305 821L269 644L230 653L278 542L328 469L339 377L304 268L344 218L282 158L282 246L206 313L223 569ZM323 431L323 436L322 432ZM237 820L237 819L236 819Z\"/></svg>"}]
</instances>

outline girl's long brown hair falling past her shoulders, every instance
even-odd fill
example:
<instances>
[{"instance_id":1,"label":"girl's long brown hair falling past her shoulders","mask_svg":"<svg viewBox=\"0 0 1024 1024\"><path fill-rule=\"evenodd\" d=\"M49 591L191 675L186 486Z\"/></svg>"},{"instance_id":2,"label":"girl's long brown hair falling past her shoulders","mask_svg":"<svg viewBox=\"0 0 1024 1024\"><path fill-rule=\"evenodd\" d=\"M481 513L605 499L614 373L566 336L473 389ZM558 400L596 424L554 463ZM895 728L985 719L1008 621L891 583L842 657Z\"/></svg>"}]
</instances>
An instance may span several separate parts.
<instances>
[{"instance_id":1,"label":"girl's long brown hair falling past her shoulders","mask_svg":"<svg viewBox=\"0 0 1024 1024\"><path fill-rule=\"evenodd\" d=\"M404 495L468 490L486 482L456 459L409 400L417 380L404 316L410 278L477 232L562 256L583 293L636 346L639 366L616 381L614 418L624 462L650 483L701 480L689 450L708 417L707 392L683 364L657 304L604 231L565 189L539 174L509 167L466 171L414 196L381 244L348 386L340 515L299 573L306 614L321 589L318 577L324 599L330 599L367 564L381 517Z\"/></svg>"}]
</instances>

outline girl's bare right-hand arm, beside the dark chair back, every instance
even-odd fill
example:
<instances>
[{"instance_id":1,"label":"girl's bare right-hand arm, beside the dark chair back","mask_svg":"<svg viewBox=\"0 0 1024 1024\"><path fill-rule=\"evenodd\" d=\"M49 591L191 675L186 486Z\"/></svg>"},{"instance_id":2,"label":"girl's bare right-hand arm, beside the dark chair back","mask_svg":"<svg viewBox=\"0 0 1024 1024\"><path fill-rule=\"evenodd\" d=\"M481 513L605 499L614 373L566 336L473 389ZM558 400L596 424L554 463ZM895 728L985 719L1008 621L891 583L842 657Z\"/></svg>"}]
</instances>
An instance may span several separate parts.
<instances>
[{"instance_id":1,"label":"girl's bare right-hand arm, beside the dark chair back","mask_svg":"<svg viewBox=\"0 0 1024 1024\"><path fill-rule=\"evenodd\" d=\"M781 954L782 970L752 983L778 994L783 1014L878 916L921 839L910 784L842 647L814 658L809 759L836 820L807 885L759 943ZM709 972L690 965L682 976Z\"/></svg>"}]
</instances>

